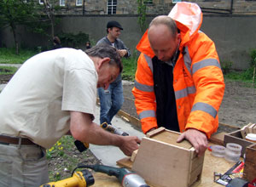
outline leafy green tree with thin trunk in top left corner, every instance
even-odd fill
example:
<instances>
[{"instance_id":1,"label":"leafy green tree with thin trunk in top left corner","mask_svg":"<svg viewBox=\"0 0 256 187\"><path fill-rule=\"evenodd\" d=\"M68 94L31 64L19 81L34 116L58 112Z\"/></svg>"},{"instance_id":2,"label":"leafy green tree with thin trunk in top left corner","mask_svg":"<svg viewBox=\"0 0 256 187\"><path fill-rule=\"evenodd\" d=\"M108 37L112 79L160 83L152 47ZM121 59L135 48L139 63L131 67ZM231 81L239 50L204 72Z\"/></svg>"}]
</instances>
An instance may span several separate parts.
<instances>
[{"instance_id":1,"label":"leafy green tree with thin trunk in top left corner","mask_svg":"<svg viewBox=\"0 0 256 187\"><path fill-rule=\"evenodd\" d=\"M1 0L0 1L0 28L10 27L15 39L16 54L19 54L17 41L17 26L31 25L40 19L38 8L33 1Z\"/></svg>"}]
</instances>

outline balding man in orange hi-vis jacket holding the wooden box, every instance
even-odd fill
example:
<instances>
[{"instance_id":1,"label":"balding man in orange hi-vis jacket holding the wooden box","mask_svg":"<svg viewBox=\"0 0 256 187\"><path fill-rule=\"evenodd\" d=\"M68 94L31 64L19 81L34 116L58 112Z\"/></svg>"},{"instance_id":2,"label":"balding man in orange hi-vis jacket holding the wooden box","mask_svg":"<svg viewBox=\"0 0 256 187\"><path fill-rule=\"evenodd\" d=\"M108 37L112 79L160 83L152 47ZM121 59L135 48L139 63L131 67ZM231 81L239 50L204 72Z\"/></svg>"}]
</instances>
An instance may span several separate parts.
<instances>
[{"instance_id":1,"label":"balding man in orange hi-vis jacket holding the wooden box","mask_svg":"<svg viewBox=\"0 0 256 187\"><path fill-rule=\"evenodd\" d=\"M214 42L199 31L201 8L177 3L150 23L137 45L135 96L143 133L157 127L181 132L202 156L218 128L224 77Z\"/></svg>"}]
</instances>

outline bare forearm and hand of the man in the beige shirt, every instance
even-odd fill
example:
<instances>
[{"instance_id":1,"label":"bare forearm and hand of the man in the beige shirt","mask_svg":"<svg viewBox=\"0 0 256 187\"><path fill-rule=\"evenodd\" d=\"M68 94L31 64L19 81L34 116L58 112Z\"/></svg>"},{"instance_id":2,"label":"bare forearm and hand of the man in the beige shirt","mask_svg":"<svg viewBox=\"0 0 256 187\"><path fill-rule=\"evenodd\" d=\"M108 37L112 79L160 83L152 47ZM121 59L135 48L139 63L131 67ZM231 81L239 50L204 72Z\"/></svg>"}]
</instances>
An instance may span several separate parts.
<instances>
[{"instance_id":1,"label":"bare forearm and hand of the man in the beige shirt","mask_svg":"<svg viewBox=\"0 0 256 187\"><path fill-rule=\"evenodd\" d=\"M74 139L81 142L119 147L126 156L131 156L133 150L138 149L141 142L136 136L119 136L108 133L102 127L92 122L90 114L70 111L70 132Z\"/></svg>"}]
</instances>

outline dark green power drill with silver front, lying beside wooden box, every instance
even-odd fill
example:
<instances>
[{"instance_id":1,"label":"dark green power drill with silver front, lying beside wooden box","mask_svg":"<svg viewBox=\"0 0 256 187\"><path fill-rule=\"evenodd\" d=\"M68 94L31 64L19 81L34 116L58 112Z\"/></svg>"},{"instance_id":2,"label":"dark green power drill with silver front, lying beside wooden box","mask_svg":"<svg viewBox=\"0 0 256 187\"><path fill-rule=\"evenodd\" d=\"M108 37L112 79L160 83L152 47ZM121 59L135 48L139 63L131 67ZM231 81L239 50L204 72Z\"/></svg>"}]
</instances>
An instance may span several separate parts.
<instances>
[{"instance_id":1,"label":"dark green power drill with silver front, lying beside wooden box","mask_svg":"<svg viewBox=\"0 0 256 187\"><path fill-rule=\"evenodd\" d=\"M131 172L126 168L108 167L104 165L83 165L79 164L78 168L90 168L95 172L106 173L109 176L115 176L123 187L150 187L145 180L137 173Z\"/></svg>"}]
</instances>

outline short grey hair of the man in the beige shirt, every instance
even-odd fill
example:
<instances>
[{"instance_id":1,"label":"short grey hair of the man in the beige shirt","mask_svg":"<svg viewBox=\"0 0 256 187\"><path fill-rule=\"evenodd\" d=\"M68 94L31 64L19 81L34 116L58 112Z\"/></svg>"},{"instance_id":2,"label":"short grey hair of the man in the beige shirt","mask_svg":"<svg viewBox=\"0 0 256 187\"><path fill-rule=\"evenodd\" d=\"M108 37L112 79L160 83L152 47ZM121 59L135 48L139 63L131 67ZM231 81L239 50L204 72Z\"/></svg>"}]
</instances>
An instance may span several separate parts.
<instances>
[{"instance_id":1,"label":"short grey hair of the man in the beige shirt","mask_svg":"<svg viewBox=\"0 0 256 187\"><path fill-rule=\"evenodd\" d=\"M116 48L113 48L113 46L108 45L106 43L98 44L92 48L86 49L85 54L88 54L92 57L99 57L101 59L103 58L110 58L109 65L115 65L119 68L119 71L123 71L123 65L121 62L121 57L117 51Z\"/></svg>"}]
</instances>

